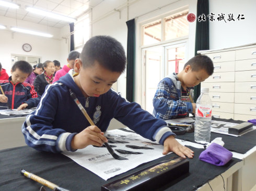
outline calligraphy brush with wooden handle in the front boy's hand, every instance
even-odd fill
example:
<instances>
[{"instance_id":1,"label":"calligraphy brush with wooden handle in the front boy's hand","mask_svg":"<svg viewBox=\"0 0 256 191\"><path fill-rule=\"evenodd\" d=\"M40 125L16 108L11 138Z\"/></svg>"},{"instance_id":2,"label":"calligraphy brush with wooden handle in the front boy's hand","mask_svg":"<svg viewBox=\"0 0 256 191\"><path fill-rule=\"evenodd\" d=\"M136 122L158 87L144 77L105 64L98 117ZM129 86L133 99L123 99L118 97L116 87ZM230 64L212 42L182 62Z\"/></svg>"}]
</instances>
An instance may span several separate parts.
<instances>
[{"instance_id":1,"label":"calligraphy brush with wooden handle in the front boy's hand","mask_svg":"<svg viewBox=\"0 0 256 191\"><path fill-rule=\"evenodd\" d=\"M79 107L79 109L82 111L82 113L84 114L84 116L86 117L86 119L88 120L88 122L90 123L90 125L95 125L94 122L91 120L90 116L88 115L88 113L86 112L85 108L82 106L82 104L80 103L80 101L77 99L76 95L71 91L71 89L69 89L70 95L71 97L74 99L76 105ZM121 157L119 155L117 155L114 150L109 146L108 143L104 143L104 145L107 147L109 153L118 160L127 160L127 158Z\"/></svg>"}]
</instances>

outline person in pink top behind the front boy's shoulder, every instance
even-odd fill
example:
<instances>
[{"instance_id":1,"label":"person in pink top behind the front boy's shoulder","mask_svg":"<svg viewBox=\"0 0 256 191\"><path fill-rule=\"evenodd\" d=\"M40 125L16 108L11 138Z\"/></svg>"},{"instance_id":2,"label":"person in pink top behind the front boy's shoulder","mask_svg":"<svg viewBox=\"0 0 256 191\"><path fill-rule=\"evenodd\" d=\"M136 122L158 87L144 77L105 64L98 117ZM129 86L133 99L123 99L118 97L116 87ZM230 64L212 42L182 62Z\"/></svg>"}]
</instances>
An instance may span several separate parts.
<instances>
[{"instance_id":1,"label":"person in pink top behind the front boy's shoulder","mask_svg":"<svg viewBox=\"0 0 256 191\"><path fill-rule=\"evenodd\" d=\"M66 73L68 73L68 71L70 69L73 69L74 68L74 64L75 64L75 60L77 58L79 58L79 55L80 53L73 50L71 51L69 54L68 54L68 58L67 58L67 62L68 64L65 65L62 69L58 70L56 73L55 73L55 77L54 77L54 80L53 82L56 82L57 80L59 80L61 77L63 77Z\"/></svg>"}]
</instances>

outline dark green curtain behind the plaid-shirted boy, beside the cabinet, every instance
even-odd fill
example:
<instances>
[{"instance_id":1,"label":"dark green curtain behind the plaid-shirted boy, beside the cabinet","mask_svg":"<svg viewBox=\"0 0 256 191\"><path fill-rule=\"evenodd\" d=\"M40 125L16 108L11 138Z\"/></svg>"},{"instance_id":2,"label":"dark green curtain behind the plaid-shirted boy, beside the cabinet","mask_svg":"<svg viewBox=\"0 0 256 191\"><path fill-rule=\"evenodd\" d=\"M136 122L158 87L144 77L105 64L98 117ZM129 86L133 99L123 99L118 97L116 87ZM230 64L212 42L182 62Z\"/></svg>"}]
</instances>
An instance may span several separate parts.
<instances>
[{"instance_id":1,"label":"dark green curtain behind the plaid-shirted boy, beside the cabinet","mask_svg":"<svg viewBox=\"0 0 256 191\"><path fill-rule=\"evenodd\" d=\"M198 18L204 14L206 21ZM195 31L195 55L197 50L208 50L209 46L209 1L197 0L196 31ZM201 84L194 87L194 101L200 96Z\"/></svg>"}]
</instances>

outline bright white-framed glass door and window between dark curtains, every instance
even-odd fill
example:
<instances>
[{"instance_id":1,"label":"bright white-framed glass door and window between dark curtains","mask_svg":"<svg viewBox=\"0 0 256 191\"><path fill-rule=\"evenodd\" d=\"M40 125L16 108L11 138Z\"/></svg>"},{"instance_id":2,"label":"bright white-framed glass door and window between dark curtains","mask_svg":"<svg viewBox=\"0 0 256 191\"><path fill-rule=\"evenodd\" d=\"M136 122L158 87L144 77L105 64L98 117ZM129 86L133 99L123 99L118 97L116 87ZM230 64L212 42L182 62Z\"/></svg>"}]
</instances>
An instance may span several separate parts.
<instances>
[{"instance_id":1,"label":"bright white-framed glass door and window between dark curtains","mask_svg":"<svg viewBox=\"0 0 256 191\"><path fill-rule=\"evenodd\" d=\"M142 25L142 107L153 111L157 84L167 75L179 73L185 64L188 47L188 10L161 16Z\"/></svg>"}]
</instances>

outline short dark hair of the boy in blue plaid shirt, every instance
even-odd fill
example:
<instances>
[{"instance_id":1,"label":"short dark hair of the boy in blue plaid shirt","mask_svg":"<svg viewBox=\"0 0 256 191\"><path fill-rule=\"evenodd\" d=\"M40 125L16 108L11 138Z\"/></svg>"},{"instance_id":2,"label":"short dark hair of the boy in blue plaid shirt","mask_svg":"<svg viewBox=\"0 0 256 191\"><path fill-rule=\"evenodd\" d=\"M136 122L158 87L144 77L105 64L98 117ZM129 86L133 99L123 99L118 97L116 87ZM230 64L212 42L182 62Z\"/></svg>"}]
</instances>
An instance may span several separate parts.
<instances>
[{"instance_id":1,"label":"short dark hair of the boy in blue plaid shirt","mask_svg":"<svg viewBox=\"0 0 256 191\"><path fill-rule=\"evenodd\" d=\"M185 63L183 69L185 69L185 67L188 65L191 66L192 71L199 71L204 69L209 75L213 74L213 61L206 55L199 54L194 56L187 63Z\"/></svg>"}]
</instances>

